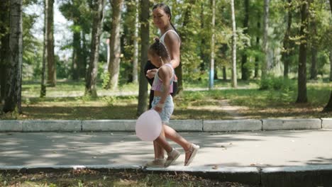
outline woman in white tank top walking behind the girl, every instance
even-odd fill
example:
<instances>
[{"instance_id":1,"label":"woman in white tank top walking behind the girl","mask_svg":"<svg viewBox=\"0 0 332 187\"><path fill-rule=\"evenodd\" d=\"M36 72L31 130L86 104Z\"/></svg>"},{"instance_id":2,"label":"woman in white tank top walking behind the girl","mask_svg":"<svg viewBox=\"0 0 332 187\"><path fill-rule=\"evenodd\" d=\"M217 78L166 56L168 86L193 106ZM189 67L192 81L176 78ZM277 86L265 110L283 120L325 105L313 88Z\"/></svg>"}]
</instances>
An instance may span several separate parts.
<instances>
[{"instance_id":1,"label":"woman in white tank top walking behind the girl","mask_svg":"<svg viewBox=\"0 0 332 187\"><path fill-rule=\"evenodd\" d=\"M171 18L172 14L169 6L167 6L166 4L156 4L155 6L153 6L153 23L160 30L160 42L165 45L166 50L170 55L170 64L172 65L172 68L175 69L179 66L181 40L179 38L179 35L177 34L177 30L172 25ZM149 61L145 65L145 73L146 77L148 77L150 85L153 84L153 78L155 77L156 72L157 67L151 64L151 62ZM177 78L175 76L175 80L173 83L173 91L171 95L174 96L176 91ZM153 95L154 92L153 90L151 90L149 108L151 108ZM173 130L167 125L165 125L163 135L165 135L165 137L167 137L168 139L177 142L177 144L181 145L184 148L186 152L184 165L189 165L190 162L188 161L194 157L192 151L195 147L193 147L192 144L189 144L187 140L184 140L184 138L179 138L177 132L175 132L175 130ZM155 159L145 164L145 166L165 166L165 150L162 149L162 147L160 147L160 145L156 141L153 142L153 146L155 150Z\"/></svg>"}]
</instances>

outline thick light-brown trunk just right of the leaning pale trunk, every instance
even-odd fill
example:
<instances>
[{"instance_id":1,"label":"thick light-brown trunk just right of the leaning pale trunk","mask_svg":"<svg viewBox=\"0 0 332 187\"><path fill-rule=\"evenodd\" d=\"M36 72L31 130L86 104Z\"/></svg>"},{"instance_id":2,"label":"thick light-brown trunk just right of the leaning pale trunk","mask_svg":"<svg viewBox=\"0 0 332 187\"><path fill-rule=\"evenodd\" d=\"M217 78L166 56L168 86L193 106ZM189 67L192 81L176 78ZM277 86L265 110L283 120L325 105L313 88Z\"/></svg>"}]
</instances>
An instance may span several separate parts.
<instances>
[{"instance_id":1,"label":"thick light-brown trunk just right of the leaning pale trunk","mask_svg":"<svg viewBox=\"0 0 332 187\"><path fill-rule=\"evenodd\" d=\"M116 89L118 87L118 74L120 72L121 57L121 9L123 0L110 0L112 6L112 28L110 39L111 54L109 57L109 84L106 89Z\"/></svg>"}]
</instances>

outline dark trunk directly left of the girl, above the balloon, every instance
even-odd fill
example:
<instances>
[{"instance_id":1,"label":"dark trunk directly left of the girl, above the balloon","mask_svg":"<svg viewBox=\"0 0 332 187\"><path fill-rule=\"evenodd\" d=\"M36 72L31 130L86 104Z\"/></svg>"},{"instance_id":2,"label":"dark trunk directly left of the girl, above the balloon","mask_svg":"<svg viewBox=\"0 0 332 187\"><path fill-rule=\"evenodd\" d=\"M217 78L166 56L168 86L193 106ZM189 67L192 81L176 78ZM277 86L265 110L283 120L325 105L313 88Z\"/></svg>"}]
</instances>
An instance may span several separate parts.
<instances>
[{"instance_id":1,"label":"dark trunk directly left of the girl, above the balloon","mask_svg":"<svg viewBox=\"0 0 332 187\"><path fill-rule=\"evenodd\" d=\"M149 16L150 16L150 1L140 1L140 81L138 93L138 108L137 115L140 115L148 108L148 81L145 79L144 67L148 61L149 49Z\"/></svg>"}]
</instances>

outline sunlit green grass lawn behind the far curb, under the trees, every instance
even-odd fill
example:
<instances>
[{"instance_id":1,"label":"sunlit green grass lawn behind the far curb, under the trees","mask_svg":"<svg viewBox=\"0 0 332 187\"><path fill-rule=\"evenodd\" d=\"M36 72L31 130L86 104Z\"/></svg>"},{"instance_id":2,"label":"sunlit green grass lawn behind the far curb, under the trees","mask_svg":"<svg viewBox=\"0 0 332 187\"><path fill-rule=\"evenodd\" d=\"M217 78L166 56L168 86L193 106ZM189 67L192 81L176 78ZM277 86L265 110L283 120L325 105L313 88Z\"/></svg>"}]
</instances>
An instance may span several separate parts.
<instances>
[{"instance_id":1,"label":"sunlit green grass lawn behind the far curb, under the trees","mask_svg":"<svg viewBox=\"0 0 332 187\"><path fill-rule=\"evenodd\" d=\"M204 88L203 82L184 83L186 88ZM309 82L307 103L295 103L296 86L282 90L259 90L255 81L239 81L238 89L231 89L229 81L216 81L215 89L183 91L175 97L172 119L223 120L234 118L331 118L332 113L321 113L326 106L331 82ZM293 80L290 84L296 85ZM295 87L295 89L294 89ZM23 84L23 115L2 114L0 119L136 119L138 84L126 84L116 91L98 85L98 98L84 96L84 83L59 81L48 87L47 97L39 98L37 82ZM128 95L128 96L126 96ZM225 103L233 111L225 108Z\"/></svg>"}]
</instances>

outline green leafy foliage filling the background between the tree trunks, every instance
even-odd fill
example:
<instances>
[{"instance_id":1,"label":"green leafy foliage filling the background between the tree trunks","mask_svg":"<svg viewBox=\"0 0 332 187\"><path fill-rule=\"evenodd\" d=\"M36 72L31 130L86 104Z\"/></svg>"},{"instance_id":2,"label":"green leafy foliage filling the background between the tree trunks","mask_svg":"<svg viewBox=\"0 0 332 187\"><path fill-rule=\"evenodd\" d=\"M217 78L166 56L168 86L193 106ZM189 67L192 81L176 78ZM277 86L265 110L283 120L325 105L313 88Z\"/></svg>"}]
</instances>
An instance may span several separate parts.
<instances>
[{"instance_id":1,"label":"green leafy foliage filling the background between the tree trunks","mask_svg":"<svg viewBox=\"0 0 332 187\"><path fill-rule=\"evenodd\" d=\"M194 4L192 3L194 2ZM43 56L43 41L35 38L33 28L36 26L37 18L42 16L38 11L25 11L24 8L37 5L38 8L43 9L43 1L40 0L24 0L23 1L23 79L39 79L41 73L41 62ZM60 0L56 2L59 4L60 11L68 21L70 26L68 29L72 33L80 33L79 41L82 49L82 54L87 59L89 55L89 40L92 27L92 1L88 0ZM153 1L157 3L157 1ZM211 2L210 1L177 1L169 0L165 2L172 11L172 23L179 31L182 38L181 47L181 62L183 69L184 81L205 81L209 76L209 64L211 62ZM314 47L318 50L317 53L317 72L319 77L326 78L329 74L329 59L328 52L330 51L332 38L332 17L329 9L328 1L313 1L309 8L309 33L312 33L314 26L316 27L316 34L310 34L308 41L303 41L303 36L299 35L300 14L299 6L302 1L294 0L292 4L287 1L270 1L270 26L269 26L269 54L272 61L272 67L280 67L285 60L290 60L289 74L297 74L298 67L298 51L300 42L307 42L309 47ZM245 18L244 1L236 0L236 26L238 36L238 64L240 64L240 56L245 54L248 56L245 67L249 69L250 74L253 74L255 69L255 58L258 58L259 63L264 62L265 54L262 53L262 17L263 17L263 1L250 1L249 4L249 25L248 28L243 28L243 21ZM121 67L119 86L126 85L131 81L132 62L133 62L133 37L135 30L135 1L124 1L122 10L122 30L121 30ZM187 8L191 8L187 25L185 23L185 13ZM138 8L140 11L140 8ZM101 40L109 38L111 30L111 6L107 1L105 9L106 18L104 20L104 33ZM151 11L151 10L150 10ZM292 44L284 49L282 41L284 40L284 33L287 28L287 13L292 15L292 26L289 39ZM40 11L43 13L43 11ZM313 24L315 23L315 24ZM42 24L42 23L40 23ZM42 26L38 26L42 28ZM57 28L55 28L56 30ZM247 29L248 33L245 34ZM218 76L221 75L221 69L226 67L228 78L229 69L231 68L231 8L230 2L227 0L216 1L216 45L215 45L215 64ZM40 31L40 33L42 33ZM3 33L0 33L0 35ZM153 38L159 36L157 28L153 25L153 19L150 18L150 42ZM83 37L86 37L83 42ZM259 40L259 42L257 42ZM62 41L60 43L60 50L71 51L74 49L73 41ZM309 48L310 49L310 48ZM287 52L287 55L282 58L280 55ZM307 67L311 66L311 52L307 52ZM57 62L57 77L59 79L68 79L72 75L72 58L65 60L62 57L56 57ZM102 80L103 86L106 84L107 76L102 67L106 61L106 47L101 45L100 61L98 68L98 79ZM145 63L145 62L140 62ZM238 66L239 67L239 66ZM140 71L140 69L138 70ZM238 71L240 73L240 70ZM271 71L275 77L280 76L281 71ZM252 76L251 76L252 77ZM287 80L282 81L281 78L273 78L272 80L262 80L260 86L262 89L277 89L277 90L294 90L294 86L281 86L289 84ZM204 86L207 86L204 85Z\"/></svg>"}]
</instances>

